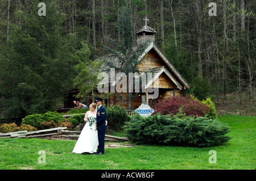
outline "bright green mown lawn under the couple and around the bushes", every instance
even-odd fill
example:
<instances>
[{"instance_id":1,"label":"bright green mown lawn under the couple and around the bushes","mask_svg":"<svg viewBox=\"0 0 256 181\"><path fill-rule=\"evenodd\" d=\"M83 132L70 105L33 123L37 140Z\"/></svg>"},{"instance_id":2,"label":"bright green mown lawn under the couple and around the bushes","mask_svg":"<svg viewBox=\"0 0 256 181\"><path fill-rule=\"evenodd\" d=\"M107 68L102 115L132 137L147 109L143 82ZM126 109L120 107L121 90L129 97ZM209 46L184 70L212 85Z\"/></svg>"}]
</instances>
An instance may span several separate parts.
<instances>
[{"instance_id":1,"label":"bright green mown lawn under the couple and around the bushes","mask_svg":"<svg viewBox=\"0 0 256 181\"><path fill-rule=\"evenodd\" d=\"M0 139L0 169L255 169L256 116L219 116L232 139L209 148L137 146L106 148L105 154L73 154L76 141ZM39 164L39 150L46 163ZM209 163L215 150L217 163Z\"/></svg>"}]
</instances>

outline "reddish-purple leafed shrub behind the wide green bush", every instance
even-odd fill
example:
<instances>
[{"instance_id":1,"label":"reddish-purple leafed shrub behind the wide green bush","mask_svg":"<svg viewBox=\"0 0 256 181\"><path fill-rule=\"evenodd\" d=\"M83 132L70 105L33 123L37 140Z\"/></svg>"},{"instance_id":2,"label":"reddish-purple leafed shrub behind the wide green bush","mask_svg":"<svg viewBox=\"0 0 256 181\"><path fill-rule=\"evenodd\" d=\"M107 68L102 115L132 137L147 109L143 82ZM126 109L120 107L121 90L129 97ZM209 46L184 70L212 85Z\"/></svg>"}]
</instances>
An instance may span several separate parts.
<instances>
[{"instance_id":1,"label":"reddish-purple leafed shrub behind the wide green bush","mask_svg":"<svg viewBox=\"0 0 256 181\"><path fill-rule=\"evenodd\" d=\"M183 107L182 111L186 116L205 116L209 113L209 107L205 104L191 99L190 96L179 97L179 96L170 96L166 100L156 104L155 111L152 115L155 115L158 112L161 112L161 115L176 115L179 112L179 109Z\"/></svg>"}]
</instances>

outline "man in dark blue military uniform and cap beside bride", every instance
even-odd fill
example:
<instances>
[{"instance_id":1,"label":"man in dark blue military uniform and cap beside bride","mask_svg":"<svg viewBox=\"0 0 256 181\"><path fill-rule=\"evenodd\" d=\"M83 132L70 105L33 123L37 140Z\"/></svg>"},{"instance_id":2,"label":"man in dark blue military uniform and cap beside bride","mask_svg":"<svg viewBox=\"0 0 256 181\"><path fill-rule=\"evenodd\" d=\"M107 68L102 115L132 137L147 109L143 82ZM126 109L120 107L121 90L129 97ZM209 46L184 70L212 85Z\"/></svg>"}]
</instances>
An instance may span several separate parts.
<instances>
[{"instance_id":1,"label":"man in dark blue military uniform and cap beside bride","mask_svg":"<svg viewBox=\"0 0 256 181\"><path fill-rule=\"evenodd\" d=\"M98 130L98 153L97 155L104 154L105 148L105 132L106 132L106 110L102 106L102 98L96 99L96 104L98 106L98 111L96 115L96 123Z\"/></svg>"}]
</instances>

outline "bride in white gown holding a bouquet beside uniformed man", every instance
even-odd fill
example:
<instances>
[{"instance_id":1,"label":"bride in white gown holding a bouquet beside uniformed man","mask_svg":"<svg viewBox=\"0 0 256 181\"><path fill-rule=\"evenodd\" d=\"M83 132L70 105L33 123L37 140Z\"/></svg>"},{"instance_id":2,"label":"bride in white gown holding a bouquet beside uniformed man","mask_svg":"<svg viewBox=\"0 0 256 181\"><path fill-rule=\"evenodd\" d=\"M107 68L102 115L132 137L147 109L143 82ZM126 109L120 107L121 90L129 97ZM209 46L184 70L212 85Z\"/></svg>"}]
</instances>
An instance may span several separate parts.
<instances>
[{"instance_id":1,"label":"bride in white gown holding a bouquet beside uniformed man","mask_svg":"<svg viewBox=\"0 0 256 181\"><path fill-rule=\"evenodd\" d=\"M92 103L89 106L88 112L84 116L86 122L81 131L79 139L76 142L75 148L72 153L96 153L98 147L98 131L96 126L96 106Z\"/></svg>"}]
</instances>

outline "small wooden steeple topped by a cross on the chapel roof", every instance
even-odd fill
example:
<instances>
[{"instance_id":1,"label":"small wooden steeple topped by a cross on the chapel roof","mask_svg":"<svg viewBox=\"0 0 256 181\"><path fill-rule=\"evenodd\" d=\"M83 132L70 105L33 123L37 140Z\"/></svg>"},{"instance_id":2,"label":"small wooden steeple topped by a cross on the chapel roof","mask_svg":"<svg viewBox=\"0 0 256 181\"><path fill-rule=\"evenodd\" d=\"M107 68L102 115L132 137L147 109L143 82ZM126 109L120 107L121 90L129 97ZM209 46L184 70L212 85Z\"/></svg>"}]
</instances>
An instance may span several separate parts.
<instances>
[{"instance_id":1,"label":"small wooden steeple topped by a cross on the chapel roof","mask_svg":"<svg viewBox=\"0 0 256 181\"><path fill-rule=\"evenodd\" d=\"M155 41L156 31L147 26L147 21L149 19L145 18L143 20L145 20L145 25L141 30L135 33L137 39L137 48L141 47L141 45L143 45L147 41Z\"/></svg>"}]
</instances>

